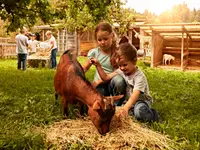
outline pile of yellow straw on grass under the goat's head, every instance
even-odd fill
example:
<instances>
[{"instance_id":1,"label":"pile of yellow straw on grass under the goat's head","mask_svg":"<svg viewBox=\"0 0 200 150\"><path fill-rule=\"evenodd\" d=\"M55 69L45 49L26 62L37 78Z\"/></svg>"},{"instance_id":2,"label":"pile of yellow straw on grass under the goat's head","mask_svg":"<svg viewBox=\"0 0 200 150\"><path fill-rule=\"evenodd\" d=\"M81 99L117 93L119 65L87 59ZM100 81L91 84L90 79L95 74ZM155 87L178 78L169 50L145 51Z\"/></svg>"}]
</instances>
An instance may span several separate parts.
<instances>
[{"instance_id":1,"label":"pile of yellow straw on grass under the goat's head","mask_svg":"<svg viewBox=\"0 0 200 150\"><path fill-rule=\"evenodd\" d=\"M42 132L46 135L47 145L54 145L59 150L68 149L74 143L90 145L94 150L175 149L175 143L167 136L143 127L132 118L118 120L114 116L110 132L105 136L98 133L87 117L56 122Z\"/></svg>"}]
</instances>

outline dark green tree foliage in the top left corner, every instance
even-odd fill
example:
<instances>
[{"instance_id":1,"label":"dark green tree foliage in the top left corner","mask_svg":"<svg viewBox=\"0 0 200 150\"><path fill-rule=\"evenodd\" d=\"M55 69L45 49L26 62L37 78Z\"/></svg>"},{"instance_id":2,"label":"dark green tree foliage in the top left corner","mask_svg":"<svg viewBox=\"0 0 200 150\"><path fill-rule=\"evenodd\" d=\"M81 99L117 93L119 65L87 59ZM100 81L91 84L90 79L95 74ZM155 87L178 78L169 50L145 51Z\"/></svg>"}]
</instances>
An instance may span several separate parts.
<instances>
[{"instance_id":1,"label":"dark green tree foliage in the top left corner","mask_svg":"<svg viewBox=\"0 0 200 150\"><path fill-rule=\"evenodd\" d=\"M7 30L32 26L40 18L47 23L51 19L48 0L0 0L0 17L7 21Z\"/></svg>"}]
</instances>

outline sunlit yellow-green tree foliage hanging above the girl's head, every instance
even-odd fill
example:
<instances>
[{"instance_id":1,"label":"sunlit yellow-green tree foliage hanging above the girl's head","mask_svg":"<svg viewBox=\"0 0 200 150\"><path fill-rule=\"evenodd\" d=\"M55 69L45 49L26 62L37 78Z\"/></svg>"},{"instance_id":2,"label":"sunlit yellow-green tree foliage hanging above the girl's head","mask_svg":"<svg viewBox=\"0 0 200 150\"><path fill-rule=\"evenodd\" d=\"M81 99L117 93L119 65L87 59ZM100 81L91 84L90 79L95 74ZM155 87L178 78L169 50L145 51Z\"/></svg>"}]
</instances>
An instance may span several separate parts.
<instances>
[{"instance_id":1,"label":"sunlit yellow-green tree foliage hanging above the girl's head","mask_svg":"<svg viewBox=\"0 0 200 150\"><path fill-rule=\"evenodd\" d=\"M125 34L135 21L134 9L123 8L121 0L51 0L57 19L68 30L84 31L100 21L119 25L119 33Z\"/></svg>"}]
</instances>

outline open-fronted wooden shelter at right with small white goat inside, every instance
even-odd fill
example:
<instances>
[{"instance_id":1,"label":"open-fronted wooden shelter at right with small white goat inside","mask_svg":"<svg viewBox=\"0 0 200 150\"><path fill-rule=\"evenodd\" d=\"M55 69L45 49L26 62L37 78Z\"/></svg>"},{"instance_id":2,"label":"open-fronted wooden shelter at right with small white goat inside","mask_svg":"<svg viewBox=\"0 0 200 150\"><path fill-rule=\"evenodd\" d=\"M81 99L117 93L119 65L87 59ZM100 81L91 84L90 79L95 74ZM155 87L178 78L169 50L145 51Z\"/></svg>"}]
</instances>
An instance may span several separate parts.
<instances>
[{"instance_id":1,"label":"open-fronted wooden shelter at right with small white goat inside","mask_svg":"<svg viewBox=\"0 0 200 150\"><path fill-rule=\"evenodd\" d=\"M200 23L145 24L140 32L152 37L151 67L200 70ZM163 65L163 55L175 57Z\"/></svg>"}]
</instances>

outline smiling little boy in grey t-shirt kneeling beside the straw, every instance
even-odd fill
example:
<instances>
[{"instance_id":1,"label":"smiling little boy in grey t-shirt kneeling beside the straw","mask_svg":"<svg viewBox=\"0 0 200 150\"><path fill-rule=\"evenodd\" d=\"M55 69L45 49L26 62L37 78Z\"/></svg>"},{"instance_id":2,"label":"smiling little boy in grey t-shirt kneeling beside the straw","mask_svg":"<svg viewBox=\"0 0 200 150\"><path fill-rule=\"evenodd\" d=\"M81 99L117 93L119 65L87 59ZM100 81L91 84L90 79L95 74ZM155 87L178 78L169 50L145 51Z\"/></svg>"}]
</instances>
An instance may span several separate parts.
<instances>
[{"instance_id":1,"label":"smiling little boy in grey t-shirt kneeling beside the straw","mask_svg":"<svg viewBox=\"0 0 200 150\"><path fill-rule=\"evenodd\" d=\"M117 51L116 63L119 69L106 74L99 61L90 59L104 81L109 81L116 75L121 75L127 83L126 96L122 109L117 114L119 117L127 117L128 114L135 115L137 120L157 121L158 115L151 109L152 97L149 94L147 79L144 73L136 66L137 50L130 43L123 43Z\"/></svg>"}]
</instances>

